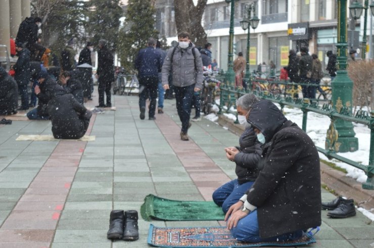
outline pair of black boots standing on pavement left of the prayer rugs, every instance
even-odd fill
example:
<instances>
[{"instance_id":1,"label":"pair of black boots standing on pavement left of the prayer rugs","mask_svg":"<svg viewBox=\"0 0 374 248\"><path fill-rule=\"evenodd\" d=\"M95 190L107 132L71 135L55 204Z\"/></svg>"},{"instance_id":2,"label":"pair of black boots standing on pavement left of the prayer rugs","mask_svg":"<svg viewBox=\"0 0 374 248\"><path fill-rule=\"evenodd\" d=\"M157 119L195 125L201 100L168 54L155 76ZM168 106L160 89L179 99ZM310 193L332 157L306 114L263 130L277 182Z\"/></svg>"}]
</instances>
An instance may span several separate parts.
<instances>
[{"instance_id":1,"label":"pair of black boots standing on pavement left of the prayer rugs","mask_svg":"<svg viewBox=\"0 0 374 248\"><path fill-rule=\"evenodd\" d=\"M113 210L110 213L107 238L130 241L139 239L137 220L138 216L135 210Z\"/></svg>"}]
</instances>

